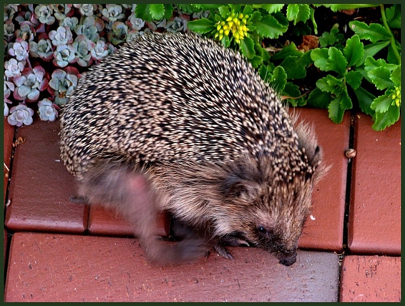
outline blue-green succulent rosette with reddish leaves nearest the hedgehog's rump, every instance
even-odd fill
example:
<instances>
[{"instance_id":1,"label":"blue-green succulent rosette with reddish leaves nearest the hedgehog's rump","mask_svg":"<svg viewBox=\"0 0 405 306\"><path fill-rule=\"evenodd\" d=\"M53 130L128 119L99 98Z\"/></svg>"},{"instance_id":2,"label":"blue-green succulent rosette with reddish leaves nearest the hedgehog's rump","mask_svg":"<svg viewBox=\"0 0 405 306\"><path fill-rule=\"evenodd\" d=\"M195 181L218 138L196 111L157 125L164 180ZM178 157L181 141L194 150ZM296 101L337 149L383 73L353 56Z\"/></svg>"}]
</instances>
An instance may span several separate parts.
<instances>
[{"instance_id":1,"label":"blue-green succulent rosette with reddish leaves nearest the hedgehog's rump","mask_svg":"<svg viewBox=\"0 0 405 306\"><path fill-rule=\"evenodd\" d=\"M66 97L76 87L79 77L80 74L74 67L66 67L65 70L55 69L52 72L48 91L55 97L54 103L56 105L66 103Z\"/></svg>"}]
</instances>

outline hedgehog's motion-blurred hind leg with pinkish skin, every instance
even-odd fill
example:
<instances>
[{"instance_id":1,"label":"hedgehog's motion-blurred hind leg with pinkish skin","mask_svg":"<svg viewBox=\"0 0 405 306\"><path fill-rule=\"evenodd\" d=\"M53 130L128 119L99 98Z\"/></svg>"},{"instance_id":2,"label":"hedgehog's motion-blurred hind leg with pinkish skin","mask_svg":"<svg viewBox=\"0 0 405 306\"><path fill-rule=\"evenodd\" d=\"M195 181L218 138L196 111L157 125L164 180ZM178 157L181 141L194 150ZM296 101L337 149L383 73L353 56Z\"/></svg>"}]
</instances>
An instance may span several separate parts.
<instances>
[{"instance_id":1,"label":"hedgehog's motion-blurred hind leg with pinkish skin","mask_svg":"<svg viewBox=\"0 0 405 306\"><path fill-rule=\"evenodd\" d=\"M161 196L152 187L146 173L130 163L94 161L80 180L80 195L89 203L115 208L139 238L149 260L168 264L184 263L203 257L211 245L187 231L182 240L166 243L154 234L154 224L161 212L157 199Z\"/></svg>"}]
</instances>

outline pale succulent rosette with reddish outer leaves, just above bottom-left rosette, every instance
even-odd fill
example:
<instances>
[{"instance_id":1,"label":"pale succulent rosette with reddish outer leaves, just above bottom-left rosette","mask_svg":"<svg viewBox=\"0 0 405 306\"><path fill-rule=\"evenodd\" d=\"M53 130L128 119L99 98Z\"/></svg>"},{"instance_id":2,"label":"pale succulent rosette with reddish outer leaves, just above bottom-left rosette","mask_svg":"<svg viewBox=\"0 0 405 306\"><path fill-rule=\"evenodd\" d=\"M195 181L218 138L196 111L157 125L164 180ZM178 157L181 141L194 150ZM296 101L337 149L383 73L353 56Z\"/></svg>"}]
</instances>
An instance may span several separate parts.
<instances>
[{"instance_id":1,"label":"pale succulent rosette with reddish outer leaves, just above bottom-left rosette","mask_svg":"<svg viewBox=\"0 0 405 306\"><path fill-rule=\"evenodd\" d=\"M16 86L13 97L19 101L34 102L38 100L39 92L48 87L45 69L41 66L24 68L20 77L15 77L13 82Z\"/></svg>"}]
</instances>

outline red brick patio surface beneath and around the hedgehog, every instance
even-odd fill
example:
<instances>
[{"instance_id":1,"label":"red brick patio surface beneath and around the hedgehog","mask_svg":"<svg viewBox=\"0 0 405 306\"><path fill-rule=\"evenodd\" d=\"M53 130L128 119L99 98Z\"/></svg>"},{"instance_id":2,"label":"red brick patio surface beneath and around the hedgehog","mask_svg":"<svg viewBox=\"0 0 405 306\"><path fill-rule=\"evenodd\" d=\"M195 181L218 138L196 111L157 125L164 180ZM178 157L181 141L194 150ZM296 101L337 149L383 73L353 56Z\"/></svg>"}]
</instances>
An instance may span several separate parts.
<instances>
[{"instance_id":1,"label":"red brick patio surface beneath and around the hedgehog","mask_svg":"<svg viewBox=\"0 0 405 306\"><path fill-rule=\"evenodd\" d=\"M331 170L314 188L289 267L254 247L230 248L234 260L148 262L114 211L69 200L76 183L60 161L59 122L35 114L15 135L6 121L4 300L400 301L400 122L375 132L365 114L336 125L326 110L298 111ZM349 161L350 136L357 155ZM157 236L169 234L170 221L163 213L151 224Z\"/></svg>"}]
</instances>

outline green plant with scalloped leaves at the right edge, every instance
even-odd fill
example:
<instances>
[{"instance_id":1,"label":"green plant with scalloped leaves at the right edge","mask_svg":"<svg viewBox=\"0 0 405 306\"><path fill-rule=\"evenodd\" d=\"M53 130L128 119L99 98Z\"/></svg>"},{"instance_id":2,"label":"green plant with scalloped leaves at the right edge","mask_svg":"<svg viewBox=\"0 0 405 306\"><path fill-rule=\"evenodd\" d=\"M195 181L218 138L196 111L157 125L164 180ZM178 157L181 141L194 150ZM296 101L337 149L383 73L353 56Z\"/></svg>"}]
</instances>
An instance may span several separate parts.
<instances>
[{"instance_id":1,"label":"green plant with scalloped leaves at the right edge","mask_svg":"<svg viewBox=\"0 0 405 306\"><path fill-rule=\"evenodd\" d=\"M352 98L356 97L362 111L373 116L373 129L383 130L398 121L401 105L400 44L388 25L400 25L398 7L384 10L381 5L383 25L349 22L355 34L347 40L343 49L337 47L318 48L312 51L311 59L321 71L330 72L316 82L316 88L308 97L308 104L316 107L328 107L329 117L340 123L346 109L351 109ZM385 12L388 12L389 19ZM339 41L336 30L323 34L323 46ZM366 46L360 40L370 41ZM322 44L321 44L322 46ZM388 46L387 63L384 59L375 60L374 56ZM333 73L331 73L333 72ZM378 91L374 96L362 86L373 84ZM354 95L349 94L351 87Z\"/></svg>"}]
</instances>

